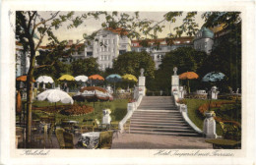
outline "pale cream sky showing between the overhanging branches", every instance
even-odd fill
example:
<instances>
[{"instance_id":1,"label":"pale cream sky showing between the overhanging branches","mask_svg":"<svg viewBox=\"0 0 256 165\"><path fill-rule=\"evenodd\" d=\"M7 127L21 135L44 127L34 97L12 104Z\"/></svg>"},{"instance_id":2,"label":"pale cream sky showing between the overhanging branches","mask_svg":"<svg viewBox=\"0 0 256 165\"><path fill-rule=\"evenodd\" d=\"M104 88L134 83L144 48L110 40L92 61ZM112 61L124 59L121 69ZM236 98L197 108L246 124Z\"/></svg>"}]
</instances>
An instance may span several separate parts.
<instances>
[{"instance_id":1,"label":"pale cream sky showing between the overhanging branches","mask_svg":"<svg viewBox=\"0 0 256 165\"><path fill-rule=\"evenodd\" d=\"M49 18L51 12L39 12L40 16L43 18ZM75 17L83 14L85 12L75 12ZM123 12L130 15L133 15L134 12ZM163 15L167 12L139 12L140 19L150 19L154 20L156 22L160 22L163 20ZM60 15L66 14L66 12L60 12ZM195 18L195 21L199 24L199 27L202 27L204 24L204 21L201 19L201 14L198 13L198 15ZM175 23L168 23L166 21L162 22L160 25L164 25L163 31L159 33L159 38L164 38L167 36L168 33L174 33L173 28L178 27L182 24L182 20L185 17L186 13L183 13L182 17L177 18L177 21ZM70 40L73 39L76 41L77 39L83 39L83 33L91 34L92 32L96 31L97 29L101 28L101 24L104 22L103 17L100 17L99 20L90 19L86 20L83 25L77 28L67 28L68 23L65 23L62 27L60 27L57 30L53 30L55 35L59 38L59 40ZM47 38L44 37L41 45L46 45L48 42Z\"/></svg>"}]
</instances>

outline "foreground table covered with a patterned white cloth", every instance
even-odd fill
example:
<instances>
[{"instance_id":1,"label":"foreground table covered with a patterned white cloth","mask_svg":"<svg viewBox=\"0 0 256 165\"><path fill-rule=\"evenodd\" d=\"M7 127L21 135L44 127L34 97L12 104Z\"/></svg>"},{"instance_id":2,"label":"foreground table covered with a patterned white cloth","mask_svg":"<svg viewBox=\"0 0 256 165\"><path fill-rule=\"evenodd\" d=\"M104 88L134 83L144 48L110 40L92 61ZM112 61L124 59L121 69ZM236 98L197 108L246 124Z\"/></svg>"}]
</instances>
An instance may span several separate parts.
<instances>
[{"instance_id":1,"label":"foreground table covered with a patterned white cloth","mask_svg":"<svg viewBox=\"0 0 256 165\"><path fill-rule=\"evenodd\" d=\"M90 132L82 134L78 142L88 149L96 148L99 140L100 132Z\"/></svg>"}]
</instances>

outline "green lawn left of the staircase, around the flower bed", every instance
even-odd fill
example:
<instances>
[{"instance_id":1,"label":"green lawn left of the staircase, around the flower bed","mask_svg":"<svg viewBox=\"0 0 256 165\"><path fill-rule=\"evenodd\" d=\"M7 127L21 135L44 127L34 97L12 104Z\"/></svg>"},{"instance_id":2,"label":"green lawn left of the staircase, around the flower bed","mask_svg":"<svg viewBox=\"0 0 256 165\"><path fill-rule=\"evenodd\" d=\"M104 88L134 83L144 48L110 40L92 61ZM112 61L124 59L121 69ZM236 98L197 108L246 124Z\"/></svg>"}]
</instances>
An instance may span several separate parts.
<instances>
[{"instance_id":1,"label":"green lawn left of the staircase, around the flower bed","mask_svg":"<svg viewBox=\"0 0 256 165\"><path fill-rule=\"evenodd\" d=\"M66 116L62 114L55 114L55 119L56 123L60 124L60 121L63 119L68 119L68 120L76 120L79 123L82 123L84 119L98 119L98 121L101 122L102 119L102 110L109 108L111 110L111 119L112 121L121 121L124 116L127 113L127 103L128 99L115 99L114 101L111 102L95 102L95 111L92 113L88 113L85 115L81 116ZM85 105L90 105L94 107L94 102L83 102L83 103L77 103L75 104L85 104ZM54 106L55 103L49 103L47 101L33 101L32 106L36 107L45 107L47 106ZM65 105L63 103L58 102L57 105ZM47 114L43 113L42 111L39 110L34 110L32 113L32 119L39 119L41 116L47 116Z\"/></svg>"}]
</instances>

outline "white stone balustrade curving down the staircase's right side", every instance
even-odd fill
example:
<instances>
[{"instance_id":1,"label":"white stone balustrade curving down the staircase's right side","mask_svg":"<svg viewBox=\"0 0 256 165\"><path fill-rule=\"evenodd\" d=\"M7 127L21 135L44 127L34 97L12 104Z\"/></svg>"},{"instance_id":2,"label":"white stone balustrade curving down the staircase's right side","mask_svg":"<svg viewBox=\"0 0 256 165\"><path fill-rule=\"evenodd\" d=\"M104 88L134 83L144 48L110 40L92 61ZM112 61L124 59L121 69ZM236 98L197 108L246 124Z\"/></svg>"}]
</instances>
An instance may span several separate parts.
<instances>
[{"instance_id":1,"label":"white stone balustrade curving down the staircase's right side","mask_svg":"<svg viewBox=\"0 0 256 165\"><path fill-rule=\"evenodd\" d=\"M188 114L187 114L187 105L185 104L179 104L177 102L178 100L178 92L173 92L173 96L174 96L174 102L175 102L175 105L179 108L179 111L183 117L183 119L187 122L187 124L195 131L197 132L198 134L203 134L203 131L201 129L199 129L188 117Z\"/></svg>"}]
</instances>

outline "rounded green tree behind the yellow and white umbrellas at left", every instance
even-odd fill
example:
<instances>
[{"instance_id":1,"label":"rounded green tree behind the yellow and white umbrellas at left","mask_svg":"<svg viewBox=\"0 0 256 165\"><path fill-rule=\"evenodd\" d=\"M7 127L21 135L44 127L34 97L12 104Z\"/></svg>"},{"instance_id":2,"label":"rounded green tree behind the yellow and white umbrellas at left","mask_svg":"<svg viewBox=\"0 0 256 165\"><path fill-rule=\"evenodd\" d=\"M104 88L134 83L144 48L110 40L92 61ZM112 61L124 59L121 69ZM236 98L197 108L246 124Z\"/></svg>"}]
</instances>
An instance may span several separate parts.
<instances>
[{"instance_id":1,"label":"rounded green tree behind the yellow and white umbrellas at left","mask_svg":"<svg viewBox=\"0 0 256 165\"><path fill-rule=\"evenodd\" d=\"M73 76L87 75L91 76L99 72L96 58L87 58L83 60L76 60L71 63L71 70Z\"/></svg>"}]
</instances>

